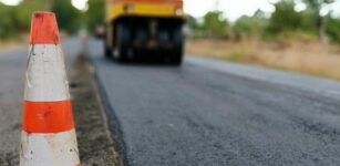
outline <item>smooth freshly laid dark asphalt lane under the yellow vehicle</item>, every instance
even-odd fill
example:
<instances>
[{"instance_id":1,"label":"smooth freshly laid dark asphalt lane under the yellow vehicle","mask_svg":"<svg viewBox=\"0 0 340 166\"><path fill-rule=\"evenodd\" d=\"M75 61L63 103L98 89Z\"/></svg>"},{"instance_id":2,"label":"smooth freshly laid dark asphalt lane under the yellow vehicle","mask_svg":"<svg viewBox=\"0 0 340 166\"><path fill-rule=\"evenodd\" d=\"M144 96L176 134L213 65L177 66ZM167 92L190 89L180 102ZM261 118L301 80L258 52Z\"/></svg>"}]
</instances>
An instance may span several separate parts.
<instances>
[{"instance_id":1,"label":"smooth freshly laid dark asphalt lane under the yellow vehicle","mask_svg":"<svg viewBox=\"0 0 340 166\"><path fill-rule=\"evenodd\" d=\"M121 65L87 49L127 165L340 165L336 81L202 58Z\"/></svg>"}]
</instances>

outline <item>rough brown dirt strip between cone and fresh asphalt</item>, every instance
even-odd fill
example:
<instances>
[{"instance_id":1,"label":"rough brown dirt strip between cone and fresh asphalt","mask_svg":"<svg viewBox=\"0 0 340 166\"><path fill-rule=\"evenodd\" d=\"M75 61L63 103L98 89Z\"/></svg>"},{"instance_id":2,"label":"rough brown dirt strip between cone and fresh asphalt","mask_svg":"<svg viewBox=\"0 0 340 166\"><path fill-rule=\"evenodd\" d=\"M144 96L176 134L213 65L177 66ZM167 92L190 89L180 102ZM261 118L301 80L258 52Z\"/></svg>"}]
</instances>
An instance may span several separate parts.
<instances>
[{"instance_id":1,"label":"rough brown dirt strip between cone and fresh asphalt","mask_svg":"<svg viewBox=\"0 0 340 166\"><path fill-rule=\"evenodd\" d=\"M69 76L82 166L122 166L107 131L92 68L85 55L74 63Z\"/></svg>"}]
</instances>

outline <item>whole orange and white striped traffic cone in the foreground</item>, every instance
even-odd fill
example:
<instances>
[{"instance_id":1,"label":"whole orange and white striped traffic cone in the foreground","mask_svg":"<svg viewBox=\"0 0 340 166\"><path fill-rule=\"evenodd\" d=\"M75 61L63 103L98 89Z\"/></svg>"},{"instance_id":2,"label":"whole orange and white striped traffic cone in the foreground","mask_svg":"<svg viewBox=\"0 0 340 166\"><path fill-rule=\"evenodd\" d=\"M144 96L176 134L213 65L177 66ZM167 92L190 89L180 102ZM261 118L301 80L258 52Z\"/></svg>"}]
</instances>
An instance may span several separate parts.
<instances>
[{"instance_id":1,"label":"whole orange and white striped traffic cone in the foreground","mask_svg":"<svg viewBox=\"0 0 340 166\"><path fill-rule=\"evenodd\" d=\"M80 165L54 13L33 13L28 59L20 166Z\"/></svg>"}]
</instances>

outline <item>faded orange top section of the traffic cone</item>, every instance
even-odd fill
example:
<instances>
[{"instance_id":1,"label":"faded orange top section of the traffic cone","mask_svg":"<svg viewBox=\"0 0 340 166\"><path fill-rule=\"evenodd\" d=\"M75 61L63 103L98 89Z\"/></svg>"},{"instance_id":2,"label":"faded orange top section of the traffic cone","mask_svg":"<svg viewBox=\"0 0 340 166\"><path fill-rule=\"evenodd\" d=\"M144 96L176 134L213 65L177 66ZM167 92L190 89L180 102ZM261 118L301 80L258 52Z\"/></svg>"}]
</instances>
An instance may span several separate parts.
<instances>
[{"instance_id":1,"label":"faded orange top section of the traffic cone","mask_svg":"<svg viewBox=\"0 0 340 166\"><path fill-rule=\"evenodd\" d=\"M35 11L31 22L31 44L59 44L60 35L55 14L50 11Z\"/></svg>"}]
</instances>

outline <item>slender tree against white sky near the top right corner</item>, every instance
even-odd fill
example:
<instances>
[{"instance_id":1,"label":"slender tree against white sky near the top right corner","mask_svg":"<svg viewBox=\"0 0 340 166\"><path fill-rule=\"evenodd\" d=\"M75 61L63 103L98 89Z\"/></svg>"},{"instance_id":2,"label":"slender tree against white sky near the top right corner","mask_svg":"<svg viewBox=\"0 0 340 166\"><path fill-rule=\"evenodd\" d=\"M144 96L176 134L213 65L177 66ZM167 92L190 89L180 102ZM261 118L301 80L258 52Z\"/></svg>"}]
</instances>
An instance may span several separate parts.
<instances>
[{"instance_id":1,"label":"slender tree against white sky near the top right corner","mask_svg":"<svg viewBox=\"0 0 340 166\"><path fill-rule=\"evenodd\" d=\"M303 0L308 6L308 9L311 11L312 17L315 18L315 27L319 32L319 40L324 42L324 28L326 19L320 14L320 11L324 4L333 3L334 0Z\"/></svg>"}]
</instances>

